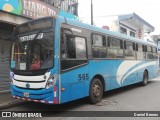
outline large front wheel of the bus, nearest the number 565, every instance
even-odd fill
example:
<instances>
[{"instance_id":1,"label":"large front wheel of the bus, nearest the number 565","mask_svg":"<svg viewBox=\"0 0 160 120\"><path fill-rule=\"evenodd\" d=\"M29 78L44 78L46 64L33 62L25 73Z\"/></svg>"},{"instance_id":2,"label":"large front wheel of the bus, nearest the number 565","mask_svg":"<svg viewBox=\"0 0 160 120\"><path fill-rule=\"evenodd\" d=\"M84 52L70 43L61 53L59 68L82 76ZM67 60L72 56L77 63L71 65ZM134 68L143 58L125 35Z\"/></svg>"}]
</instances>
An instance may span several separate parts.
<instances>
[{"instance_id":1,"label":"large front wheel of the bus, nearest the number 565","mask_svg":"<svg viewBox=\"0 0 160 120\"><path fill-rule=\"evenodd\" d=\"M100 79L94 78L89 89L89 101L92 104L98 103L102 100L103 84Z\"/></svg>"}]
</instances>

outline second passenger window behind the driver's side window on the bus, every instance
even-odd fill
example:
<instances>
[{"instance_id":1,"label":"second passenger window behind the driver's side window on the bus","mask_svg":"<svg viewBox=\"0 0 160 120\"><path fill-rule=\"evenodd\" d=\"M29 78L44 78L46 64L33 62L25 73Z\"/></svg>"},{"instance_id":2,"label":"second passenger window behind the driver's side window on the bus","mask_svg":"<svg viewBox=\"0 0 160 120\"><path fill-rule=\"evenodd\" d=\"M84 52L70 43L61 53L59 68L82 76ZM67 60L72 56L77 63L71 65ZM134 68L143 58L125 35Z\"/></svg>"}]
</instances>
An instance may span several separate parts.
<instances>
[{"instance_id":1,"label":"second passenger window behind the driver's side window on the bus","mask_svg":"<svg viewBox=\"0 0 160 120\"><path fill-rule=\"evenodd\" d=\"M114 37L108 37L108 57L123 58L123 41Z\"/></svg>"}]
</instances>

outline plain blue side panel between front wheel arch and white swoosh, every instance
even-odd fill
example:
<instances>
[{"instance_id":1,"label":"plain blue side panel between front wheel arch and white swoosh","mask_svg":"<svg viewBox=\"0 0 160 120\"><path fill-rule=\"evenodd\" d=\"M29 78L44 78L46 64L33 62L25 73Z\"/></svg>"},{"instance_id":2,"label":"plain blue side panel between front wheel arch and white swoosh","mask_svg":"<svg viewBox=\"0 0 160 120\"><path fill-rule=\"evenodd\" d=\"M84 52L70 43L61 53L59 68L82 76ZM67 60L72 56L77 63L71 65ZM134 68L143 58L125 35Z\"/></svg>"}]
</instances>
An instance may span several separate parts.
<instances>
[{"instance_id":1,"label":"plain blue side panel between front wheel arch and white swoosh","mask_svg":"<svg viewBox=\"0 0 160 120\"><path fill-rule=\"evenodd\" d=\"M120 87L117 82L117 68L123 60L91 60L89 73L91 78L101 75L105 81L105 91Z\"/></svg>"}]
</instances>

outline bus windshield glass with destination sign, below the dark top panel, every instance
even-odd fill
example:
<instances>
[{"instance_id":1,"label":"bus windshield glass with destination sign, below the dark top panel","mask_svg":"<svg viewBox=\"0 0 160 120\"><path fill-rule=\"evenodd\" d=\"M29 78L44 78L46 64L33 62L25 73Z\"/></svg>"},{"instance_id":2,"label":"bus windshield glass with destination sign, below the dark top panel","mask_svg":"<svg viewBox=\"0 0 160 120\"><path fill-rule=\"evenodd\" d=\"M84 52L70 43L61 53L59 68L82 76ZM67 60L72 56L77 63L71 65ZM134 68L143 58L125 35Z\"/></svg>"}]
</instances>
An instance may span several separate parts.
<instances>
[{"instance_id":1,"label":"bus windshield glass with destination sign, below the dark top panel","mask_svg":"<svg viewBox=\"0 0 160 120\"><path fill-rule=\"evenodd\" d=\"M54 32L36 31L15 37L11 52L11 69L41 70L53 67Z\"/></svg>"}]
</instances>

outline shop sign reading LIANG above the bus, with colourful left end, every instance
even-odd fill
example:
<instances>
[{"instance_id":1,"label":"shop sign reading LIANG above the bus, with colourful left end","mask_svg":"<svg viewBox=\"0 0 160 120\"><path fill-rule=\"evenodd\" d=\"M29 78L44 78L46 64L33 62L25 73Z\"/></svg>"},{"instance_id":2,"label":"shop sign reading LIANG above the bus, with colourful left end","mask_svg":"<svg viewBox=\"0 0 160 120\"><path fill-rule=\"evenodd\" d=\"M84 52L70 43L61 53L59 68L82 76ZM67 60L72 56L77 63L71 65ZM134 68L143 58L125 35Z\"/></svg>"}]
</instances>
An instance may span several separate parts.
<instances>
[{"instance_id":1,"label":"shop sign reading LIANG above the bus, with colourful left end","mask_svg":"<svg viewBox=\"0 0 160 120\"><path fill-rule=\"evenodd\" d=\"M59 9L38 0L1 0L0 10L28 18L55 16Z\"/></svg>"}]
</instances>

